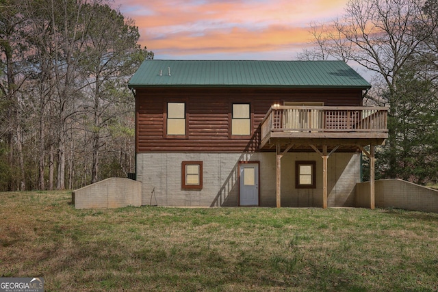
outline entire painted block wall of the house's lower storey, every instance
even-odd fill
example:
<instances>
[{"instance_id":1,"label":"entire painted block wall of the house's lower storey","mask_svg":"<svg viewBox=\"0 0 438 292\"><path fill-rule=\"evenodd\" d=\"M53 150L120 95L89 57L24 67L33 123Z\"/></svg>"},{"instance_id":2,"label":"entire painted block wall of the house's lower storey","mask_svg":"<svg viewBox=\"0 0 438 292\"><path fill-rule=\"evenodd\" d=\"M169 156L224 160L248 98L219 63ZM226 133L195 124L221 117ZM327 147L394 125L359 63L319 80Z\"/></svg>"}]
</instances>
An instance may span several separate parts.
<instances>
[{"instance_id":1,"label":"entire painted block wall of the house's lower storey","mask_svg":"<svg viewBox=\"0 0 438 292\"><path fill-rule=\"evenodd\" d=\"M181 189L181 162L203 161L203 189ZM239 161L259 161L261 207L276 205L274 152L149 152L137 155L142 204L175 207L238 206ZM295 188L295 161L316 161L316 189ZM315 152L289 152L281 159L281 205L322 207L322 158ZM359 153L335 152L329 158L329 206L352 206L360 182Z\"/></svg>"}]
</instances>

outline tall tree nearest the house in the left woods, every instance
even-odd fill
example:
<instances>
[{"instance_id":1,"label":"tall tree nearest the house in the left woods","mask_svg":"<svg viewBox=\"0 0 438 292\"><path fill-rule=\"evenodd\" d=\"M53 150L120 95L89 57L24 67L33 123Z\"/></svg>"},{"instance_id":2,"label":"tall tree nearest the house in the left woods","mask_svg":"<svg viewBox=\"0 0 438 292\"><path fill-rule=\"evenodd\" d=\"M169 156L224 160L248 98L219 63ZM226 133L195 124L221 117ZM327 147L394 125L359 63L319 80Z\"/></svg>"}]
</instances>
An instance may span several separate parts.
<instances>
[{"instance_id":1,"label":"tall tree nearest the house in the left woods","mask_svg":"<svg viewBox=\"0 0 438 292\"><path fill-rule=\"evenodd\" d=\"M109 5L88 5L86 9L92 18L81 70L86 75L86 92L90 97L86 108L92 119L88 131L92 133L91 181L95 183L99 174L99 152L105 144L103 138L110 135L107 127L114 117L126 114L118 106L127 98L117 90L119 83L126 82L148 52L137 44L140 35L131 19Z\"/></svg>"}]
</instances>

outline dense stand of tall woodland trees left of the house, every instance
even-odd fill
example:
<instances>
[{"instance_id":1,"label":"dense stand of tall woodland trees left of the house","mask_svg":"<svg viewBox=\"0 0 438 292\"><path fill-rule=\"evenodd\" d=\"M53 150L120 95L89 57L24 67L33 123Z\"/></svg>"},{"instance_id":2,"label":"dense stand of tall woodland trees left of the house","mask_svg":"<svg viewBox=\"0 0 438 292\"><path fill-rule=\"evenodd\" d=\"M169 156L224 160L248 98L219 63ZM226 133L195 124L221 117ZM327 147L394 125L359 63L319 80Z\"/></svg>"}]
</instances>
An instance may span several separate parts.
<instances>
[{"instance_id":1,"label":"dense stand of tall woodland trees left of the house","mask_svg":"<svg viewBox=\"0 0 438 292\"><path fill-rule=\"evenodd\" d=\"M108 3L0 0L1 190L83 186L101 159L102 178L131 170L126 83L153 53Z\"/></svg>"}]
</instances>

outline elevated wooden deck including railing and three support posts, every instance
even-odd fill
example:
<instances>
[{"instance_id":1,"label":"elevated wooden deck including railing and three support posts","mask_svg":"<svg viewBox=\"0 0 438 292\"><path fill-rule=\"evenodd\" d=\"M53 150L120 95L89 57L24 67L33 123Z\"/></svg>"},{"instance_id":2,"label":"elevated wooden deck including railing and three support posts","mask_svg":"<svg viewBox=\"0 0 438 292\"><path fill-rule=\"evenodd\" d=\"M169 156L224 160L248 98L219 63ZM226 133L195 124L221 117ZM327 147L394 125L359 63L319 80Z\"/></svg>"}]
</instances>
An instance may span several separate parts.
<instances>
[{"instance_id":1,"label":"elevated wooden deck including railing and three support posts","mask_svg":"<svg viewBox=\"0 0 438 292\"><path fill-rule=\"evenodd\" d=\"M370 208L374 209L374 146L388 137L387 117L387 107L272 106L261 121L260 148L276 152L276 207L281 207L281 157L286 152L308 147L322 157L325 209L329 157L337 149L359 148L370 159ZM363 147L367 145L369 151Z\"/></svg>"}]
</instances>

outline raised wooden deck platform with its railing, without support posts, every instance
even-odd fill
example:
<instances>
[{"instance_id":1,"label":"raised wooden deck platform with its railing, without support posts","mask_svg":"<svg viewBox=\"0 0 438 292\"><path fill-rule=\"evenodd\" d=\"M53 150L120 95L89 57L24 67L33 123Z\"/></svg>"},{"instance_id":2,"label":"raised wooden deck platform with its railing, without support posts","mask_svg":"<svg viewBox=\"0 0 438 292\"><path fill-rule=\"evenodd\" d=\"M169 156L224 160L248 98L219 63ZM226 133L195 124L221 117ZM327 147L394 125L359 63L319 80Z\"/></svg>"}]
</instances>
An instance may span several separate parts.
<instances>
[{"instance_id":1,"label":"raised wooden deck platform with its railing, without support posts","mask_svg":"<svg viewBox=\"0 0 438 292\"><path fill-rule=\"evenodd\" d=\"M380 145L388 137L387 113L387 107L272 106L261 121L260 148Z\"/></svg>"}]
</instances>

